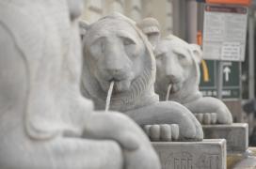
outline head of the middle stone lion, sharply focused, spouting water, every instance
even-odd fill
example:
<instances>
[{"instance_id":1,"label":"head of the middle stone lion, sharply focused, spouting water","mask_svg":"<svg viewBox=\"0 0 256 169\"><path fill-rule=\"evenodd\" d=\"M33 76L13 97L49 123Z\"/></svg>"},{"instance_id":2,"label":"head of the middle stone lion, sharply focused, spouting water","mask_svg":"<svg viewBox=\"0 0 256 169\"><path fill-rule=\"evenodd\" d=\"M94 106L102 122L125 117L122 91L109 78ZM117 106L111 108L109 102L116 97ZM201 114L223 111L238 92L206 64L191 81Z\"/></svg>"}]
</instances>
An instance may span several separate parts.
<instances>
[{"instance_id":1,"label":"head of the middle stone lion, sharply focused, spouting water","mask_svg":"<svg viewBox=\"0 0 256 169\"><path fill-rule=\"evenodd\" d=\"M155 100L155 60L141 25L114 13L87 26L83 45L82 91L96 108L104 107L112 81L112 109L127 110L150 98Z\"/></svg>"}]
</instances>

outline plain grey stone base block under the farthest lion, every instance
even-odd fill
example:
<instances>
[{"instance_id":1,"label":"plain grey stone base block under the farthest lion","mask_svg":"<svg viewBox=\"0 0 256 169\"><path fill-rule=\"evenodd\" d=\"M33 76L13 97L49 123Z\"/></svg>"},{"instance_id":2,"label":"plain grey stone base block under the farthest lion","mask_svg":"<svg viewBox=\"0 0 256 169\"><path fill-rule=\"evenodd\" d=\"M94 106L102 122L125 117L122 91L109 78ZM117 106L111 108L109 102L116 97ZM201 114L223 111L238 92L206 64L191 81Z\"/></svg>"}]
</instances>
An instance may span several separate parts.
<instances>
[{"instance_id":1,"label":"plain grey stone base block under the farthest lion","mask_svg":"<svg viewBox=\"0 0 256 169\"><path fill-rule=\"evenodd\" d=\"M244 153L248 149L248 124L202 126L205 139L226 139L229 154Z\"/></svg>"}]
</instances>

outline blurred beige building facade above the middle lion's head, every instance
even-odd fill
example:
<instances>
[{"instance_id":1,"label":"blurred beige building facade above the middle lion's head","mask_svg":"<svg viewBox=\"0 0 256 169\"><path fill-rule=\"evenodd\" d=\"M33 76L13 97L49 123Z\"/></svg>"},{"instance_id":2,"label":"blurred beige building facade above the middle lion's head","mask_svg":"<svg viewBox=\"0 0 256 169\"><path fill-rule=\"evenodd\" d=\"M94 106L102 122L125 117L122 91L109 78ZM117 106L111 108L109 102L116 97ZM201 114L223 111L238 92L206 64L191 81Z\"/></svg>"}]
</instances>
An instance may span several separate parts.
<instances>
[{"instance_id":1,"label":"blurred beige building facade above the middle lion's head","mask_svg":"<svg viewBox=\"0 0 256 169\"><path fill-rule=\"evenodd\" d=\"M114 11L136 22L146 17L153 17L159 21L162 35L166 36L174 32L174 1L179 2L179 0L86 0L82 17L88 23L93 23Z\"/></svg>"}]
</instances>

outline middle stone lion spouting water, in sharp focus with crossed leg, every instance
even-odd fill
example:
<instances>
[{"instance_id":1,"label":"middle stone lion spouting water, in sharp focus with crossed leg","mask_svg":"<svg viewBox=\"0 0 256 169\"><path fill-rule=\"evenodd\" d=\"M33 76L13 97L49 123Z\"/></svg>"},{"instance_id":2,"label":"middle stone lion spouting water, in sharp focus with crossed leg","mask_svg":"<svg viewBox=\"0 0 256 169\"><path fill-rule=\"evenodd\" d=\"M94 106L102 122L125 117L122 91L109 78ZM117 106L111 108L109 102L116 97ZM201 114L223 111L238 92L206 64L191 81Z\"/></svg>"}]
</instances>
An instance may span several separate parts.
<instances>
[{"instance_id":1,"label":"middle stone lion spouting water, in sharp focus with crossed leg","mask_svg":"<svg viewBox=\"0 0 256 169\"><path fill-rule=\"evenodd\" d=\"M114 82L110 110L129 115L140 126L178 124L179 140L202 139L202 129L194 115L177 102L159 102L154 93L152 45L138 23L114 13L85 29L81 90L95 102L97 110L104 109L108 88ZM150 130L154 140L165 133L162 129L171 130L157 125Z\"/></svg>"}]
</instances>

